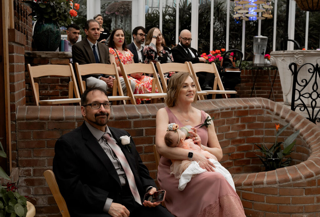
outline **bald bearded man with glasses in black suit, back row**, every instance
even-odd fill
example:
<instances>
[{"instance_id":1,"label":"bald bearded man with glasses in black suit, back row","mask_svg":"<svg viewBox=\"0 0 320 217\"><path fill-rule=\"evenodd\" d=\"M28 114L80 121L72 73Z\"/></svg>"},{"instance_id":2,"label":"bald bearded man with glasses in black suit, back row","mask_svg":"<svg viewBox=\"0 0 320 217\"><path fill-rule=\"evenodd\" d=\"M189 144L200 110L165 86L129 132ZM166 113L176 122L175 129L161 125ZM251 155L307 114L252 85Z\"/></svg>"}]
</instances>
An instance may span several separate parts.
<instances>
[{"instance_id":1,"label":"bald bearded man with glasses in black suit, back row","mask_svg":"<svg viewBox=\"0 0 320 217\"><path fill-rule=\"evenodd\" d=\"M191 32L184 29L180 32L179 43L171 49L172 57L175 63L205 63L205 58L200 57L198 51L190 47ZM214 75L212 73L199 72L197 73L199 84L202 90L212 90ZM212 96L212 95L210 95Z\"/></svg>"}]
</instances>

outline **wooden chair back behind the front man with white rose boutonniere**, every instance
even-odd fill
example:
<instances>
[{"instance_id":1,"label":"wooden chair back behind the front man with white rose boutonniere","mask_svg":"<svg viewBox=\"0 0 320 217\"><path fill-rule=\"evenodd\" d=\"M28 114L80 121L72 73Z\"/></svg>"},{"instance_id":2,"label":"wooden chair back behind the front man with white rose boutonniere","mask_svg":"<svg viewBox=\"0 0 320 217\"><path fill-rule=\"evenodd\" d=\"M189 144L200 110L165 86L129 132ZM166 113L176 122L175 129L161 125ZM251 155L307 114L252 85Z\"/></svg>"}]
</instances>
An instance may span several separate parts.
<instances>
[{"instance_id":1,"label":"wooden chair back behind the front man with white rose boutonniere","mask_svg":"<svg viewBox=\"0 0 320 217\"><path fill-rule=\"evenodd\" d=\"M54 197L54 200L56 201L60 213L62 214L62 217L70 217L69 211L68 211L68 207L66 204L66 201L64 200L64 198L62 197L57 181L56 181L56 177L54 175L54 173L52 172L52 170L46 170L44 171L44 178L48 183L48 186L51 190L51 193Z\"/></svg>"}]
</instances>

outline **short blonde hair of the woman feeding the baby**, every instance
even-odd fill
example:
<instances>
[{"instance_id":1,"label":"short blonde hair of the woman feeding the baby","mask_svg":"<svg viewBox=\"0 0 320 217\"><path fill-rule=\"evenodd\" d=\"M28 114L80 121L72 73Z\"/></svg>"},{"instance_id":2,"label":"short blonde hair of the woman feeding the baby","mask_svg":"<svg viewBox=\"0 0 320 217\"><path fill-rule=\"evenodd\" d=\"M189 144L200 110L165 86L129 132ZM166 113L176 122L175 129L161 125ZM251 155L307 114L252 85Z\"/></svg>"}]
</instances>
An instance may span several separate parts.
<instances>
[{"instance_id":1,"label":"short blonde hair of the woman feeding the baby","mask_svg":"<svg viewBox=\"0 0 320 217\"><path fill-rule=\"evenodd\" d=\"M182 88L183 82L187 79L187 77L192 78L192 81L195 80L188 72L178 72L170 77L169 84L167 87L167 97L165 98L165 104L168 107L173 107L177 105L177 99L179 97L180 89ZM197 93L193 102L195 103L197 100Z\"/></svg>"}]
</instances>

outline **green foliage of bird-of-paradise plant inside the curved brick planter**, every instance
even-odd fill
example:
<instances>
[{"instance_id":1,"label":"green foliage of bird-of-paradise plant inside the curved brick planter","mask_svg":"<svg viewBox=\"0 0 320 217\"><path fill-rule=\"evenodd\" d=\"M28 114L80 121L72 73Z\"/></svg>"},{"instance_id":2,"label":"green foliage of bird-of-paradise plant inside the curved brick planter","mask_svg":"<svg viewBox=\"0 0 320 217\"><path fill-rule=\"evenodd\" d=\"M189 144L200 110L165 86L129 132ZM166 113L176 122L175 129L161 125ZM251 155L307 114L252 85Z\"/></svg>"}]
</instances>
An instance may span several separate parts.
<instances>
[{"instance_id":1,"label":"green foliage of bird-of-paradise plant inside the curved brick planter","mask_svg":"<svg viewBox=\"0 0 320 217\"><path fill-rule=\"evenodd\" d=\"M284 142L277 142L278 136L289 126L289 124L285 125L276 133L276 142L271 146L270 149L266 147L266 145L258 146L263 156L257 155L262 161L263 165L266 167L266 171L275 170L281 167L287 167L290 165L292 160L291 157L285 158L285 156L290 155L292 152L292 148L295 145L295 139L299 135L299 130L294 132L292 135L288 136L288 138ZM283 149L281 149L281 145L283 145Z\"/></svg>"}]
</instances>

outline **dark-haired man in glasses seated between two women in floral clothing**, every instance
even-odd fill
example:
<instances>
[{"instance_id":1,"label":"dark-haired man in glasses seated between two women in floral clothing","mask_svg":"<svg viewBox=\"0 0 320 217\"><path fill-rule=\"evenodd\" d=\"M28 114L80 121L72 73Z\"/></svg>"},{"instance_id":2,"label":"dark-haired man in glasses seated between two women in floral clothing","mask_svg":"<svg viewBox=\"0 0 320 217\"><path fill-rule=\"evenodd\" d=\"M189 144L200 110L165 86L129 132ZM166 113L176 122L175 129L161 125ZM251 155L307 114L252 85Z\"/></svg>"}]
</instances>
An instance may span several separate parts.
<instances>
[{"instance_id":1,"label":"dark-haired man in glasses seated between two women in floral clothing","mask_svg":"<svg viewBox=\"0 0 320 217\"><path fill-rule=\"evenodd\" d=\"M143 46L146 39L146 29L142 26L132 30L133 42L127 48L133 53L134 63L144 63Z\"/></svg>"}]
</instances>

